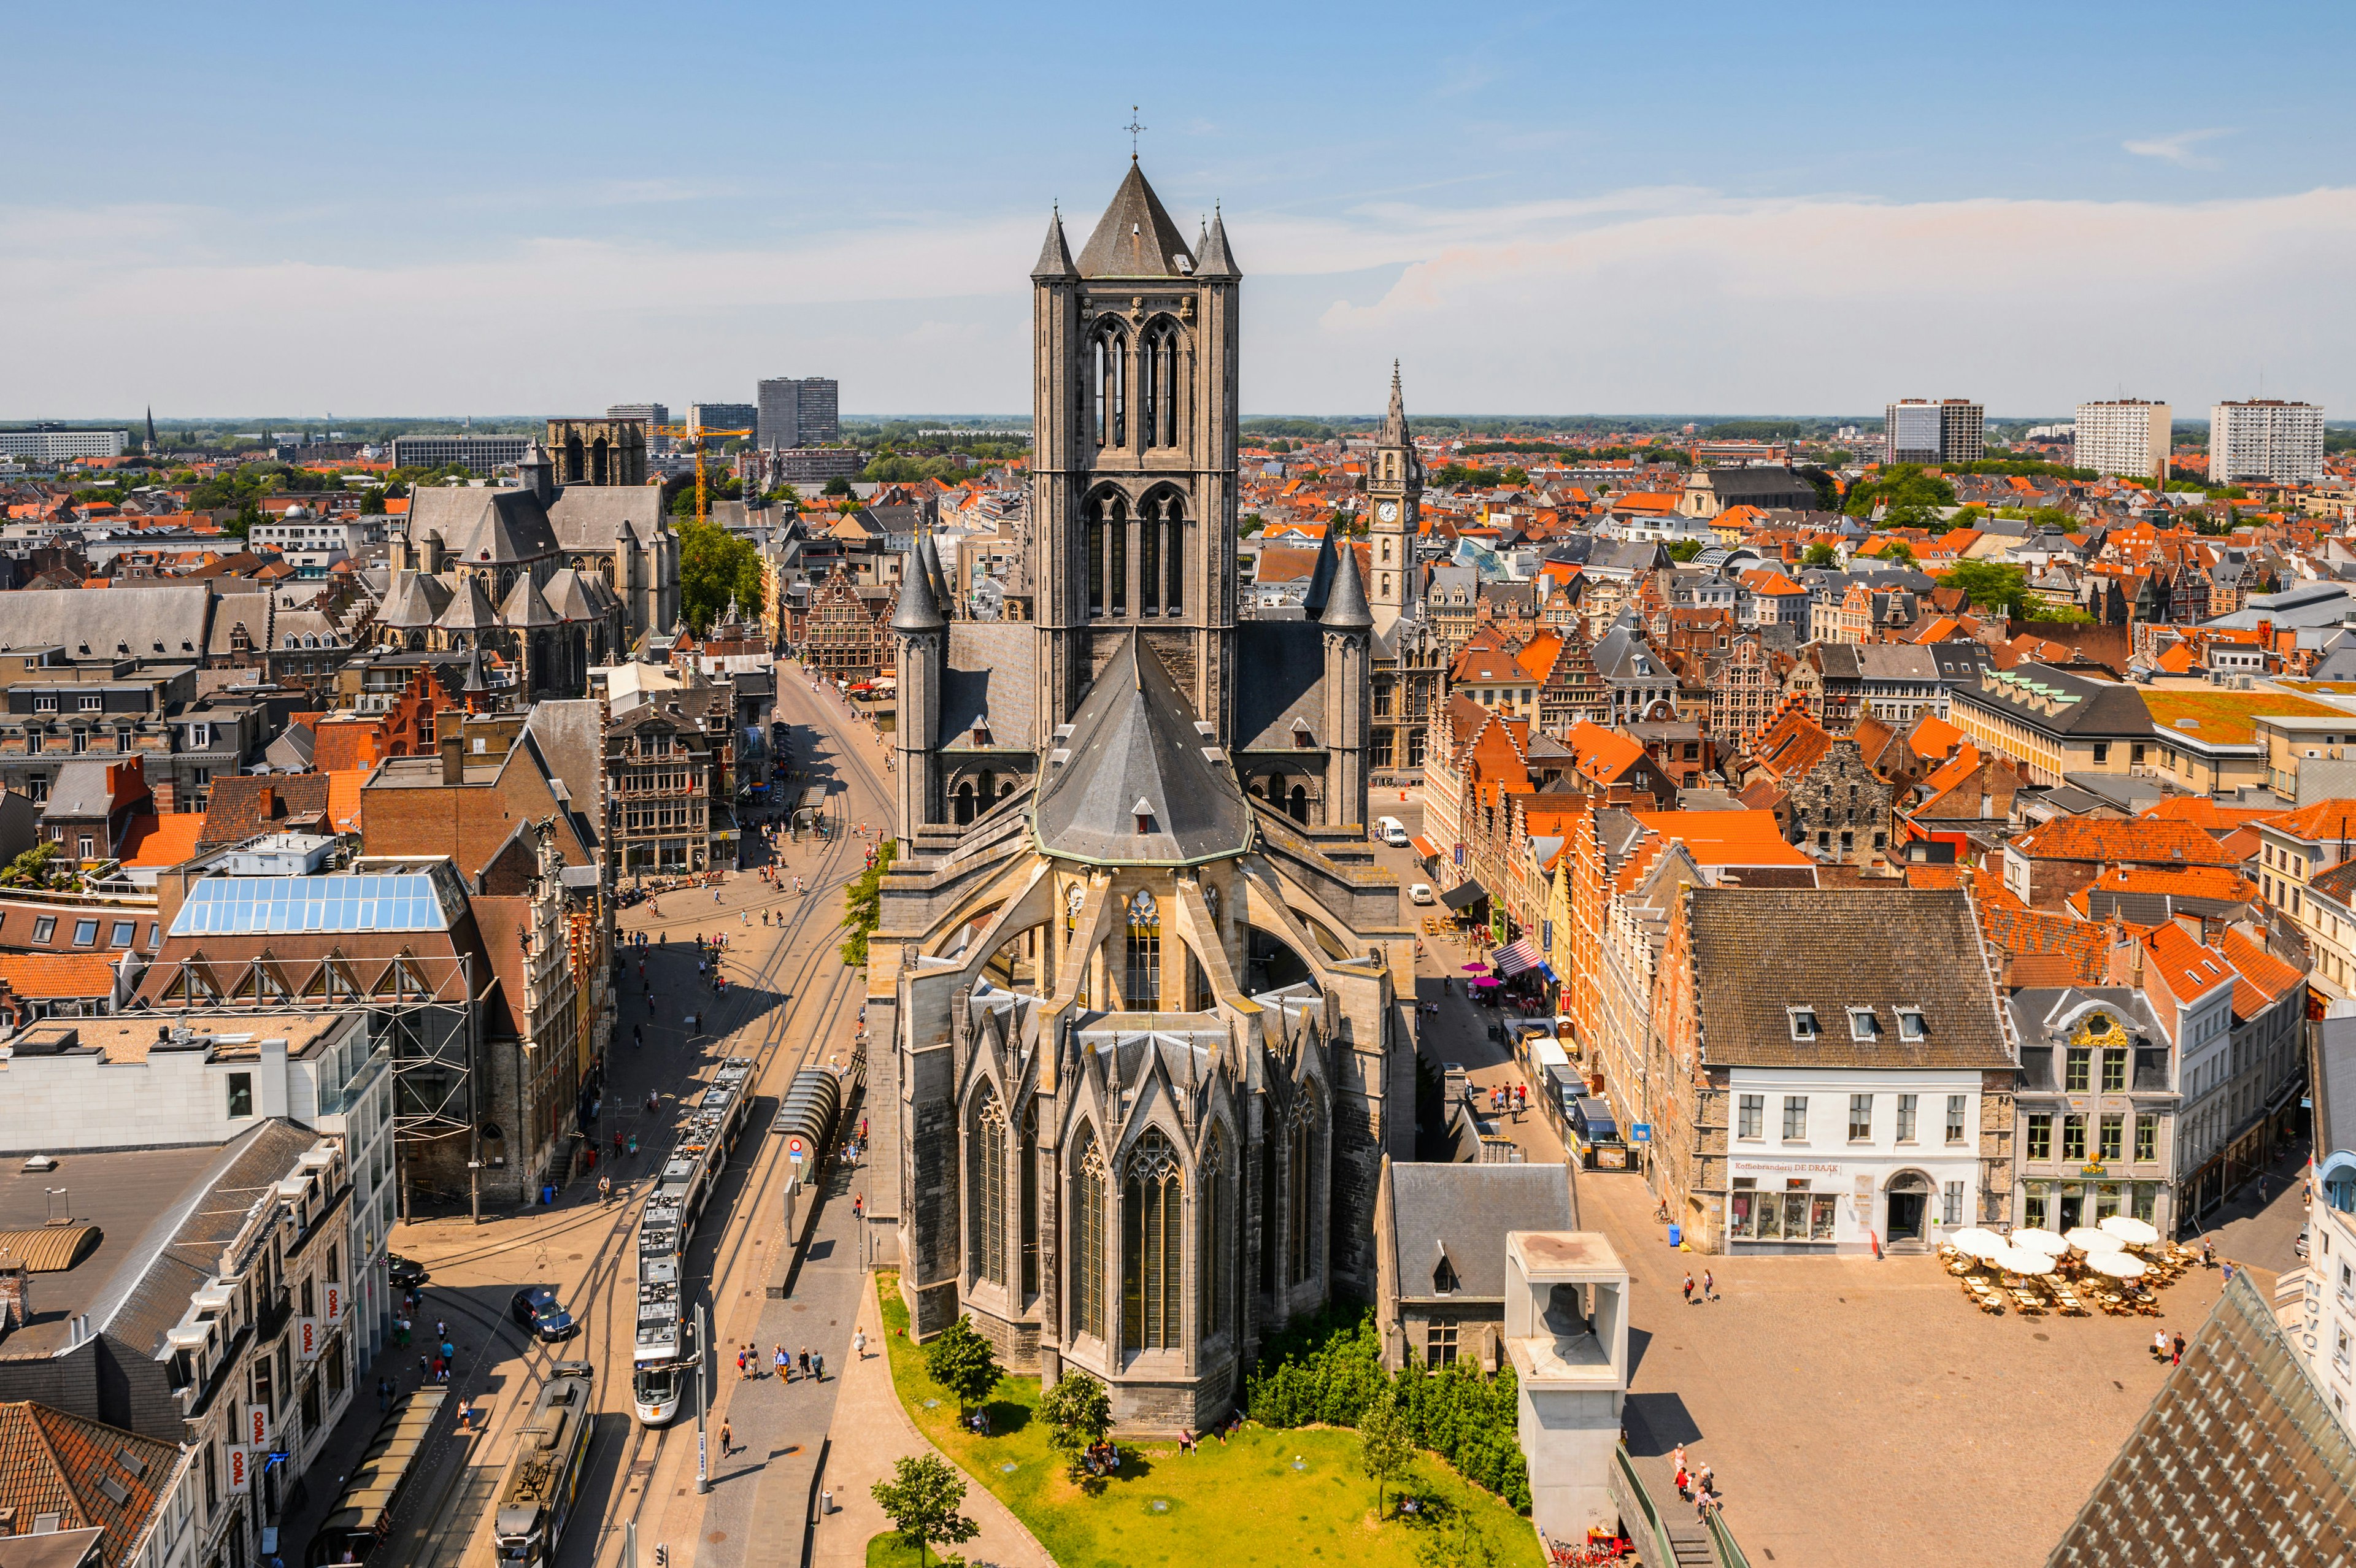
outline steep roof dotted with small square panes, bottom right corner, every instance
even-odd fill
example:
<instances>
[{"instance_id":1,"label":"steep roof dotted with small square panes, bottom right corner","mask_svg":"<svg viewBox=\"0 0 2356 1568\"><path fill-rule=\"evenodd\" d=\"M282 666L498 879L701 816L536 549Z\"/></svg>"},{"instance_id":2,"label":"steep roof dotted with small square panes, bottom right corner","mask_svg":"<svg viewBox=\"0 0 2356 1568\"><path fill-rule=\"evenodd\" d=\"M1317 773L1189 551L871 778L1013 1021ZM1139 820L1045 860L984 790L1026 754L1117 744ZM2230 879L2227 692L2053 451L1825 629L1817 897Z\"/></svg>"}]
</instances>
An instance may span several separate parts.
<instances>
[{"instance_id":1,"label":"steep roof dotted with small square panes, bottom right corner","mask_svg":"<svg viewBox=\"0 0 2356 1568\"><path fill-rule=\"evenodd\" d=\"M2047 1568L2344 1563L2356 1446L2274 1309L2238 1271Z\"/></svg>"}]
</instances>

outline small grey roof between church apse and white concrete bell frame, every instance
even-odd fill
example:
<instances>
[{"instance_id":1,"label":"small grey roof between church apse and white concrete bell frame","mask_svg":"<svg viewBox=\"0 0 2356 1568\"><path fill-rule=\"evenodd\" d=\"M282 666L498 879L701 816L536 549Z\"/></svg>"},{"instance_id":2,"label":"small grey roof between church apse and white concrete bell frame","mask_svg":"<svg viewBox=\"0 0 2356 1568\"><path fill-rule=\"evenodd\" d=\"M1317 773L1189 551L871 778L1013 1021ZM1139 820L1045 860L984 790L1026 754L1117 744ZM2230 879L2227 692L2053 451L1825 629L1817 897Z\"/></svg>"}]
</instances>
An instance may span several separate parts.
<instances>
[{"instance_id":1,"label":"small grey roof between church apse and white concrete bell frame","mask_svg":"<svg viewBox=\"0 0 2356 1568\"><path fill-rule=\"evenodd\" d=\"M1440 1165L1392 1161L1390 1257L1402 1297L1432 1295L1447 1253L1458 1288L1449 1300L1505 1300L1505 1231L1576 1231L1571 1177L1562 1165Z\"/></svg>"}]
</instances>

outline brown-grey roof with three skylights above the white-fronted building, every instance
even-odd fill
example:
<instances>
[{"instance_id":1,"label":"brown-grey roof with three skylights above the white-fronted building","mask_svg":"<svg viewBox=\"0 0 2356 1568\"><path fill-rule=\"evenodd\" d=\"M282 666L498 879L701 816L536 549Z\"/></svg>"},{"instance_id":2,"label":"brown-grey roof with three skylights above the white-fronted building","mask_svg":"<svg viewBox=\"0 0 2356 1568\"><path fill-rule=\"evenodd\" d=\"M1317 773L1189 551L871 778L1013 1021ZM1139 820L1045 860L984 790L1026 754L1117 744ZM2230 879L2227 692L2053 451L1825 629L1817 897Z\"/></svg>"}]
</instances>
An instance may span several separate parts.
<instances>
[{"instance_id":1,"label":"brown-grey roof with three skylights above the white-fronted building","mask_svg":"<svg viewBox=\"0 0 2356 1568\"><path fill-rule=\"evenodd\" d=\"M1687 921L1710 1067L2014 1064L1960 890L1694 888ZM1814 1041L1791 1008L1816 1012ZM1849 1008L1873 1010L1873 1041L1849 1038ZM1925 1038L1901 1038L1899 1008L1922 1010Z\"/></svg>"}]
</instances>

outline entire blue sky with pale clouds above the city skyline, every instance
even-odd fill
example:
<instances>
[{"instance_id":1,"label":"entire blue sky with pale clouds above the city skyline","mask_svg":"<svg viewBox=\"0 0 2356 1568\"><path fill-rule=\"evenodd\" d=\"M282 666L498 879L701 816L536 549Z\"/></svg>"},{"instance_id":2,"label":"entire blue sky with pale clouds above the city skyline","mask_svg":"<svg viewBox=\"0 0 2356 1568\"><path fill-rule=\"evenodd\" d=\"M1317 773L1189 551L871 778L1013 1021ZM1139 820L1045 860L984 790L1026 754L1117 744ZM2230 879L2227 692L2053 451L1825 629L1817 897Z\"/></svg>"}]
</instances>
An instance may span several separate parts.
<instances>
[{"instance_id":1,"label":"entire blue sky with pale clouds above the city skyline","mask_svg":"<svg viewBox=\"0 0 2356 1568\"><path fill-rule=\"evenodd\" d=\"M2356 412L2344 7L1918 9L16 7L0 417L1020 412L1131 104L1249 412Z\"/></svg>"}]
</instances>

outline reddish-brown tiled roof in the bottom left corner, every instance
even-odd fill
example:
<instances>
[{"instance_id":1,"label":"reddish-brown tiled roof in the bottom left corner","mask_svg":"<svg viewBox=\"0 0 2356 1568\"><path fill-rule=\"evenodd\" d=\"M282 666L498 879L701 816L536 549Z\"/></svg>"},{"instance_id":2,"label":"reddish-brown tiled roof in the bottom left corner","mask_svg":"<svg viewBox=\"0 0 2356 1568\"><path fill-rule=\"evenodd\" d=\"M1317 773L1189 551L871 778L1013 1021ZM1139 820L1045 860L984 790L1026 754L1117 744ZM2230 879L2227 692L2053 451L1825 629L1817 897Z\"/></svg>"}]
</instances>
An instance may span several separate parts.
<instances>
[{"instance_id":1,"label":"reddish-brown tiled roof in the bottom left corner","mask_svg":"<svg viewBox=\"0 0 2356 1568\"><path fill-rule=\"evenodd\" d=\"M16 1509L16 1528L31 1530L42 1514L57 1514L59 1530L104 1530L111 1568L163 1507L160 1488L177 1467L174 1443L28 1398L0 1403L0 1497Z\"/></svg>"}]
</instances>

